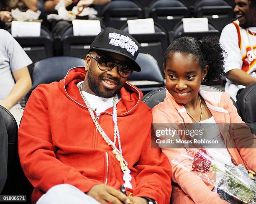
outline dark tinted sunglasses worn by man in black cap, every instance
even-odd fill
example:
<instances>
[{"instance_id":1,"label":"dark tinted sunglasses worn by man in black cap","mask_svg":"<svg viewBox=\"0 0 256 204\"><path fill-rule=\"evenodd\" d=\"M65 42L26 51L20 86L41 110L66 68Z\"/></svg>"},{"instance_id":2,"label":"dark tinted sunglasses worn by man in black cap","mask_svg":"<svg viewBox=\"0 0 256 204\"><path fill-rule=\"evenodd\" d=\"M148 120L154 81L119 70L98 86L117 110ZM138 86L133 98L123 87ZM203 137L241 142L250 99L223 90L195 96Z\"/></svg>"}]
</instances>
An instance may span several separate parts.
<instances>
[{"instance_id":1,"label":"dark tinted sunglasses worn by man in black cap","mask_svg":"<svg viewBox=\"0 0 256 204\"><path fill-rule=\"evenodd\" d=\"M124 62L116 64L115 59L109 56L96 56L94 54L90 54L90 56L92 56L92 58L97 61L98 67L101 71L110 71L115 66L117 66L118 74L120 74L120 76L123 78L127 78L131 75L131 73L133 73L133 67L130 64Z\"/></svg>"}]
</instances>

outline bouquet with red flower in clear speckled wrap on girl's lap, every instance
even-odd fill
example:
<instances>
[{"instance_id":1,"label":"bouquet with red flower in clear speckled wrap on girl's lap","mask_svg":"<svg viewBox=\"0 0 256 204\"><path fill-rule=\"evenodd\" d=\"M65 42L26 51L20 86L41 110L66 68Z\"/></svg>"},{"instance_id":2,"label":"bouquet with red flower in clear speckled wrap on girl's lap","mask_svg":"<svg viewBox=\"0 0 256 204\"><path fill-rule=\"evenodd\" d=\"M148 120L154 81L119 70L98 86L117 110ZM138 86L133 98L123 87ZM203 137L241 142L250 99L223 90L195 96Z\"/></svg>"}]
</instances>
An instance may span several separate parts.
<instances>
[{"instance_id":1,"label":"bouquet with red flower in clear speckled wrap on girl's lap","mask_svg":"<svg viewBox=\"0 0 256 204\"><path fill-rule=\"evenodd\" d=\"M220 164L214 159L216 155L212 157L211 153L209 156L205 149L186 149L186 152L174 158L172 163L215 186L220 197L230 203L238 199L246 204L256 204L256 182L242 165ZM221 175L220 181L215 181L215 174Z\"/></svg>"}]
</instances>

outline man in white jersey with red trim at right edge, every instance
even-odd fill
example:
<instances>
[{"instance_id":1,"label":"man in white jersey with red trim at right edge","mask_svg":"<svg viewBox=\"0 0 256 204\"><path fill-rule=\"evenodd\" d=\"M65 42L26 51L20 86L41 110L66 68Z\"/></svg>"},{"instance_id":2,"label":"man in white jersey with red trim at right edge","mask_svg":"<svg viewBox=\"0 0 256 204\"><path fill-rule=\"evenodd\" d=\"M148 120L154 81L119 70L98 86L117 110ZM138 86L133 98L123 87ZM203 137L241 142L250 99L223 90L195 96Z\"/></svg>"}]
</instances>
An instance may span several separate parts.
<instances>
[{"instance_id":1,"label":"man in white jersey with red trim at right edge","mask_svg":"<svg viewBox=\"0 0 256 204\"><path fill-rule=\"evenodd\" d=\"M237 20L223 28L220 43L226 51L225 92L237 95L256 82L256 1L235 0Z\"/></svg>"}]
</instances>

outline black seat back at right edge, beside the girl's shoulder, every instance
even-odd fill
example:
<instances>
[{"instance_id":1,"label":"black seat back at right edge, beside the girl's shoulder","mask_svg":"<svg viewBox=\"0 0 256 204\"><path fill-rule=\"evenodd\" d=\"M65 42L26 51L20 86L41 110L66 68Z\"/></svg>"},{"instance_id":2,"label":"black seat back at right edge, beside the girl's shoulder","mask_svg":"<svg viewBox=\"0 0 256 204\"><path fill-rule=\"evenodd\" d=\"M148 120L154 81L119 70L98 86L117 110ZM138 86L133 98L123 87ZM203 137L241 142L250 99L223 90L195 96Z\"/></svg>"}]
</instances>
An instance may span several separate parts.
<instances>
[{"instance_id":1,"label":"black seat back at right edge, beside the girl's shoulder","mask_svg":"<svg viewBox=\"0 0 256 204\"><path fill-rule=\"evenodd\" d=\"M256 134L256 83L247 86L237 97L242 120Z\"/></svg>"}]
</instances>

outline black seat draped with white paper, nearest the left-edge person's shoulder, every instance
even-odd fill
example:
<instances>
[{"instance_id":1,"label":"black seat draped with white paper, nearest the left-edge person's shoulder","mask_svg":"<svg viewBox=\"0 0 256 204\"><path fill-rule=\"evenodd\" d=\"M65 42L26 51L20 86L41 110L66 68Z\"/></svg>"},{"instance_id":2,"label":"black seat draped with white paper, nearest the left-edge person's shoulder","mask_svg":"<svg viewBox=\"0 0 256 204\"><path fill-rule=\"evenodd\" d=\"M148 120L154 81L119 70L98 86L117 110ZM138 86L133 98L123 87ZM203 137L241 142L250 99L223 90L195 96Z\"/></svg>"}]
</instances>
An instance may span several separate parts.
<instances>
[{"instance_id":1,"label":"black seat draped with white paper, nearest the left-edge person's shoulder","mask_svg":"<svg viewBox=\"0 0 256 204\"><path fill-rule=\"evenodd\" d=\"M9 33L12 33L11 26L5 28ZM33 61L33 64L46 57L53 56L53 37L51 32L41 25L41 36L38 37L14 37L26 54ZM28 66L29 73L33 72L33 64Z\"/></svg>"}]
</instances>

